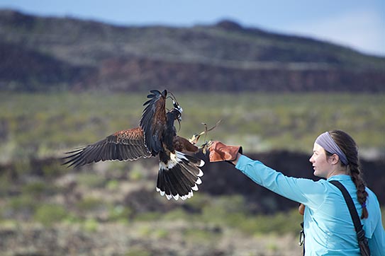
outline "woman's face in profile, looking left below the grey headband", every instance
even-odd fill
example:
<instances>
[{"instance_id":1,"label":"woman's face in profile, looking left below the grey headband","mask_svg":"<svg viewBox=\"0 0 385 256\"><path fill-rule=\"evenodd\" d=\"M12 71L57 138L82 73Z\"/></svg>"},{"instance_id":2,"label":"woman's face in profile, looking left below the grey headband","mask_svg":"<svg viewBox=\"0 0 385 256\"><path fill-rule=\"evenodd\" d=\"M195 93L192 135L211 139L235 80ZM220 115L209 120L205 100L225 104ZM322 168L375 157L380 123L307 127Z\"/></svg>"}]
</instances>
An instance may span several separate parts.
<instances>
[{"instance_id":1,"label":"woman's face in profile, looking left below the grey headband","mask_svg":"<svg viewBox=\"0 0 385 256\"><path fill-rule=\"evenodd\" d=\"M318 144L313 146L313 155L309 159L313 163L314 175L320 178L328 178L330 171L333 169L333 165L328 161L325 149Z\"/></svg>"}]
</instances>

